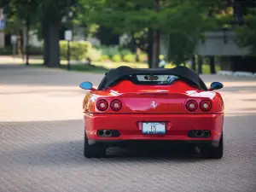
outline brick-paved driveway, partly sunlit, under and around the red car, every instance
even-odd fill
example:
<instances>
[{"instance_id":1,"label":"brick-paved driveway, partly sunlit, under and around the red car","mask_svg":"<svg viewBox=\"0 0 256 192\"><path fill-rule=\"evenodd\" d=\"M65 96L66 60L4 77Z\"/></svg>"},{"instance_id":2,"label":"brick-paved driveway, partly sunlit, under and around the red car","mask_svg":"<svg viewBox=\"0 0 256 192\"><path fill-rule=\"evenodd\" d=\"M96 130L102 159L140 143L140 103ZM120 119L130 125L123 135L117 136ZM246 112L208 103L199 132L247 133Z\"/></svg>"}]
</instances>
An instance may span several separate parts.
<instances>
[{"instance_id":1,"label":"brick-paved driveway, partly sunlit, under and around the red car","mask_svg":"<svg viewBox=\"0 0 256 192\"><path fill-rule=\"evenodd\" d=\"M79 83L102 75L0 66L0 192L256 191L256 81L223 81L224 158L140 157L110 148L84 159Z\"/></svg>"}]
</instances>

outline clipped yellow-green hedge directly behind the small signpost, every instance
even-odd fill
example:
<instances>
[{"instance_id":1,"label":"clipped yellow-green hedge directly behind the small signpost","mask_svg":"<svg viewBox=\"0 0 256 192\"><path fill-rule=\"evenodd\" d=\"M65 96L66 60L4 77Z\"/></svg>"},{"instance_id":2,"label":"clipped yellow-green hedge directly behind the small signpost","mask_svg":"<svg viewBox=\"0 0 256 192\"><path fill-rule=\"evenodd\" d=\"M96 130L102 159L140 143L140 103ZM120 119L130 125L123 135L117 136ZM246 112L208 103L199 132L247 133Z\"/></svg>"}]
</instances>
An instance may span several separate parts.
<instances>
[{"instance_id":1,"label":"clipped yellow-green hedge directly behind the small signpost","mask_svg":"<svg viewBox=\"0 0 256 192\"><path fill-rule=\"evenodd\" d=\"M61 59L67 59L67 41L60 41ZM82 61L88 57L91 44L86 41L70 42L70 58L75 61Z\"/></svg>"}]
</instances>

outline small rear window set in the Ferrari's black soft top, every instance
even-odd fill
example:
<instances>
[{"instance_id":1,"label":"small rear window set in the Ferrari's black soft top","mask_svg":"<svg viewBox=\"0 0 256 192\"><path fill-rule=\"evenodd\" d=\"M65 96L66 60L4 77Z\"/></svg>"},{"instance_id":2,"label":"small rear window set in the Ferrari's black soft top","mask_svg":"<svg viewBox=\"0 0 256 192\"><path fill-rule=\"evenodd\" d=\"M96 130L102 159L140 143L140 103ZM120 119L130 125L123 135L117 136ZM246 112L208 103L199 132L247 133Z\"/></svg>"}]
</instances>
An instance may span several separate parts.
<instances>
[{"instance_id":1,"label":"small rear window set in the Ferrari's black soft top","mask_svg":"<svg viewBox=\"0 0 256 192\"><path fill-rule=\"evenodd\" d=\"M148 74L140 74L140 75L131 75L131 81L134 84L172 84L175 80L179 79L175 75L148 75Z\"/></svg>"}]
</instances>

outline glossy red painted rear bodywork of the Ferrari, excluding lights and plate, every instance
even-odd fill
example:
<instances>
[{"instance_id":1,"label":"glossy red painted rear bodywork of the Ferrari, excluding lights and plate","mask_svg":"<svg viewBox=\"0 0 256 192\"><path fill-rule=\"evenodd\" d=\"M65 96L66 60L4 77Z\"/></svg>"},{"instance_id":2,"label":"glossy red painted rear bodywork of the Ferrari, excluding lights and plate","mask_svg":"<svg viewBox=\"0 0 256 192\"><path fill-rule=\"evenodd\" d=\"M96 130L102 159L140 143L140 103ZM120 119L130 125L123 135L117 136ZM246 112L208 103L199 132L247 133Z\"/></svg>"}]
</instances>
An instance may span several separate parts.
<instances>
[{"instance_id":1,"label":"glossy red painted rear bodywork of the Ferrari, excluding lights and plate","mask_svg":"<svg viewBox=\"0 0 256 192\"><path fill-rule=\"evenodd\" d=\"M108 102L100 111L96 103ZM119 100L122 108L115 111L111 102ZM197 103L195 111L186 108L187 102ZM201 110L201 102L208 101L211 108ZM84 123L89 140L219 140L224 124L224 102L218 92L198 90L183 81L171 85L136 85L128 80L108 90L91 90L84 97ZM142 122L166 122L166 134L145 135ZM119 137L97 137L96 131L114 129ZM212 131L208 138L188 137L190 130Z\"/></svg>"}]
</instances>

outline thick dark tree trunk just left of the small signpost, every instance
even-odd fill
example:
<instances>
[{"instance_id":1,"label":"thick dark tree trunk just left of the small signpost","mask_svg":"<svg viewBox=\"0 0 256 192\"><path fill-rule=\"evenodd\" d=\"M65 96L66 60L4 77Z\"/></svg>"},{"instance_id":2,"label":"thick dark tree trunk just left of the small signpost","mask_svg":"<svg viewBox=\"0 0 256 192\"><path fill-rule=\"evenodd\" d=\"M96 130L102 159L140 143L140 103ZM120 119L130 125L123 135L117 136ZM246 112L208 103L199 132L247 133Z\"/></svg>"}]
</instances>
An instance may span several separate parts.
<instances>
[{"instance_id":1,"label":"thick dark tree trunk just left of the small signpost","mask_svg":"<svg viewBox=\"0 0 256 192\"><path fill-rule=\"evenodd\" d=\"M60 65L60 22L49 22L45 28L44 65L58 67Z\"/></svg>"}]
</instances>

